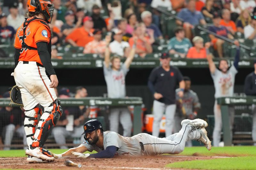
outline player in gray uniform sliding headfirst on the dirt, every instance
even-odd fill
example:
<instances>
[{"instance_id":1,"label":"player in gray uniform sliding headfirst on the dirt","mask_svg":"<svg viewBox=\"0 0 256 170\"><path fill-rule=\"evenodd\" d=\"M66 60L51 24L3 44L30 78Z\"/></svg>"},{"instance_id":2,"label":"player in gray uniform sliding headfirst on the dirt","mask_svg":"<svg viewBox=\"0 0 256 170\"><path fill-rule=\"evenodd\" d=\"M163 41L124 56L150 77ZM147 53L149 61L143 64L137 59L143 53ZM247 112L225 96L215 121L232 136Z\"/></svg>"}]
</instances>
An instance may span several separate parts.
<instances>
[{"instance_id":1,"label":"player in gray uniform sliding headfirst on the dirt","mask_svg":"<svg viewBox=\"0 0 256 170\"><path fill-rule=\"evenodd\" d=\"M184 150L185 142L198 140L211 150L211 141L207 137L205 127L207 122L202 119L181 122L182 128L179 133L168 137L159 138L147 133L140 133L133 137L123 137L113 131L103 132L102 125L98 120L90 120L84 124L84 143L76 148L71 148L62 154L54 154L59 159L74 155L77 158L113 158L115 155L143 156L158 154L178 154ZM97 151L89 154L86 151Z\"/></svg>"}]
</instances>

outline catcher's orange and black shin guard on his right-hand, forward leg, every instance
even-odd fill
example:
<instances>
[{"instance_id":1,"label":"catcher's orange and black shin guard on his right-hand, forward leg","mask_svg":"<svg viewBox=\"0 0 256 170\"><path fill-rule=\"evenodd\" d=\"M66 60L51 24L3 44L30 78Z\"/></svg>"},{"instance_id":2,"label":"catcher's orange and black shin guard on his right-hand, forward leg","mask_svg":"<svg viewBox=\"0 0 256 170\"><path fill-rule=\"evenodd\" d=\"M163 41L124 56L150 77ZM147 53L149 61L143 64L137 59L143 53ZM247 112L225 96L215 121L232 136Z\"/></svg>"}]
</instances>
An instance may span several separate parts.
<instances>
[{"instance_id":1,"label":"catcher's orange and black shin guard on his right-hand, forward leg","mask_svg":"<svg viewBox=\"0 0 256 170\"><path fill-rule=\"evenodd\" d=\"M49 106L44 108L44 113L39 119L38 127L34 135L32 147L43 147L46 139L50 135L52 128L59 121L62 114L60 101L57 99Z\"/></svg>"}]
</instances>

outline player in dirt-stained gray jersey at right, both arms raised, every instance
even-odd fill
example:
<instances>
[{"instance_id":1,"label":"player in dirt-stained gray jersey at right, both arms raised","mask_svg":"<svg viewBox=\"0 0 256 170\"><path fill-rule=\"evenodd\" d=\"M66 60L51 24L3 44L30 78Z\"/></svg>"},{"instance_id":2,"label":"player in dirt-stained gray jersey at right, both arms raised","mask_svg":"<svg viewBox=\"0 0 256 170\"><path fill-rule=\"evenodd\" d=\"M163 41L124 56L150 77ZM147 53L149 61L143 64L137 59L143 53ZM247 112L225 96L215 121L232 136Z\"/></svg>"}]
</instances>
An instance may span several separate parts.
<instances>
[{"instance_id":1,"label":"player in dirt-stained gray jersey at right, both arms raised","mask_svg":"<svg viewBox=\"0 0 256 170\"><path fill-rule=\"evenodd\" d=\"M222 129L222 120L221 120L221 112L220 112L220 105L217 104L217 98L219 97L231 97L234 94L234 85L235 85L235 76L238 72L238 62L239 62L239 42L235 41L236 44L236 56L234 63L228 69L228 61L225 59L221 59L219 63L218 70L212 61L212 56L207 55L207 60L209 63L209 69L211 72L212 80L215 87L215 104L214 104L214 129L213 129L213 146L219 146L220 143L220 132ZM208 54L208 52L207 52ZM229 107L228 114L230 117L230 130L233 129L234 123L234 114L235 110L234 107ZM231 133L232 134L232 133Z\"/></svg>"}]
</instances>

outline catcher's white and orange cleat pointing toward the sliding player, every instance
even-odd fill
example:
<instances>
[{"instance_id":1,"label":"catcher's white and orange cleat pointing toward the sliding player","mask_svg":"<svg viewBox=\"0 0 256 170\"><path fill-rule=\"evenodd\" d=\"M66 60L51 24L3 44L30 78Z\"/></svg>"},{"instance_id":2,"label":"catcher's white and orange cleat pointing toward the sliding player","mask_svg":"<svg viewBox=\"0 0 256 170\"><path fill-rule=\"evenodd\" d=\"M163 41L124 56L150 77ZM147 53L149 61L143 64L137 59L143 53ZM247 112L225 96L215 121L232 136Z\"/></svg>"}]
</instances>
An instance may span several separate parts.
<instances>
[{"instance_id":1,"label":"catcher's white and orange cleat pointing toward the sliding player","mask_svg":"<svg viewBox=\"0 0 256 170\"><path fill-rule=\"evenodd\" d=\"M42 159L43 161L44 160L49 162L54 161L54 157L52 157L52 154L43 148L36 147L35 149L31 149L30 147L28 147L25 153L28 156L36 157L36 158Z\"/></svg>"}]
</instances>

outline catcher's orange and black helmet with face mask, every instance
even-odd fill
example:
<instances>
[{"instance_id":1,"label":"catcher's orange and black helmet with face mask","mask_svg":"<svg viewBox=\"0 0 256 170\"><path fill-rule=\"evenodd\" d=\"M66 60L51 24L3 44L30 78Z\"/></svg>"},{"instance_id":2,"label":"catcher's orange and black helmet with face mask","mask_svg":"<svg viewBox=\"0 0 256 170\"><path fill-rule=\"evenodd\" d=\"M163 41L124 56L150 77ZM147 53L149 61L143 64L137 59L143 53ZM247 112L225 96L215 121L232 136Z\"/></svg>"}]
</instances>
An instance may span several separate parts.
<instances>
[{"instance_id":1,"label":"catcher's orange and black helmet with face mask","mask_svg":"<svg viewBox=\"0 0 256 170\"><path fill-rule=\"evenodd\" d=\"M27 6L28 12L41 12L45 16L46 22L49 24L52 22L53 5L51 0L28 0Z\"/></svg>"}]
</instances>

